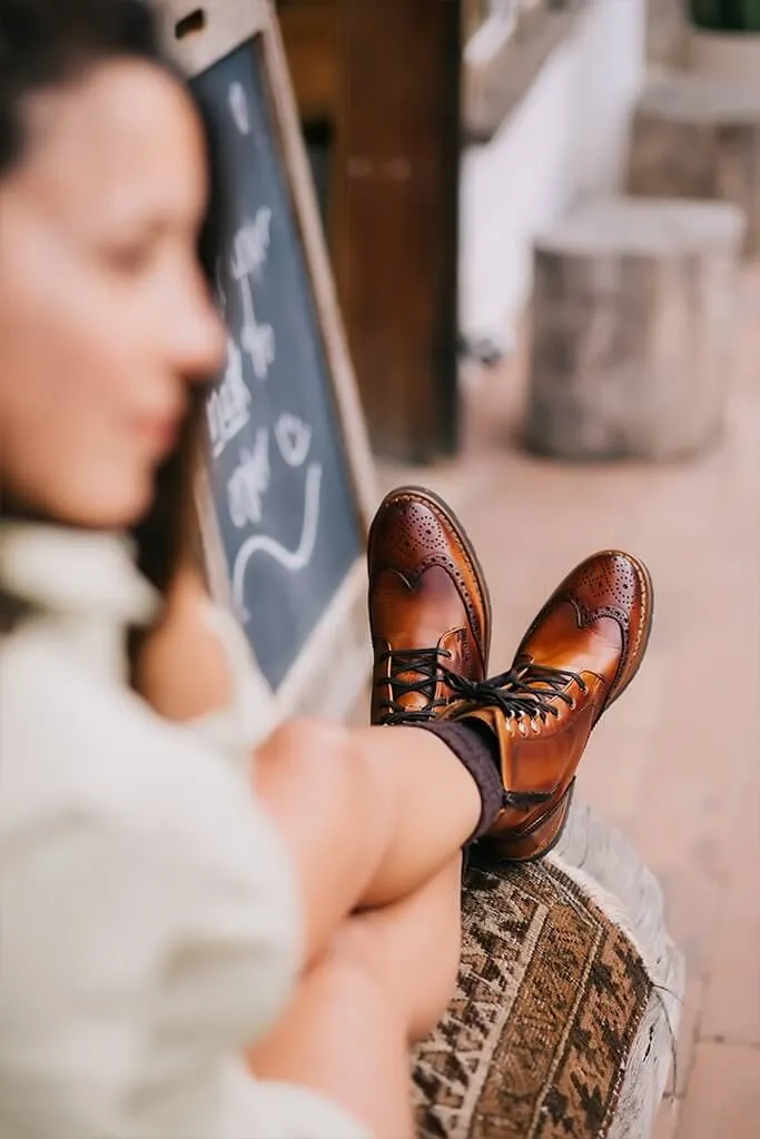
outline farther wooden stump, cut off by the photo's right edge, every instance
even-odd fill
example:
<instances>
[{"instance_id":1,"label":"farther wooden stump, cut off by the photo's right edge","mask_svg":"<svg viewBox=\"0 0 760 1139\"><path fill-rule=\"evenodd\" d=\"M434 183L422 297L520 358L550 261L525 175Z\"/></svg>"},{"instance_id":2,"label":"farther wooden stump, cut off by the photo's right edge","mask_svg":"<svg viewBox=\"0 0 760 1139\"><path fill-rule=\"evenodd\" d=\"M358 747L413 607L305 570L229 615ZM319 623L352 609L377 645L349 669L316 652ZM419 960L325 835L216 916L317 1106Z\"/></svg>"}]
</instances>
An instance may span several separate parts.
<instances>
[{"instance_id":1,"label":"farther wooden stump, cut off by the photo's right edge","mask_svg":"<svg viewBox=\"0 0 760 1139\"><path fill-rule=\"evenodd\" d=\"M746 255L760 254L760 89L653 79L634 116L628 190L733 202L746 216Z\"/></svg>"}]
</instances>

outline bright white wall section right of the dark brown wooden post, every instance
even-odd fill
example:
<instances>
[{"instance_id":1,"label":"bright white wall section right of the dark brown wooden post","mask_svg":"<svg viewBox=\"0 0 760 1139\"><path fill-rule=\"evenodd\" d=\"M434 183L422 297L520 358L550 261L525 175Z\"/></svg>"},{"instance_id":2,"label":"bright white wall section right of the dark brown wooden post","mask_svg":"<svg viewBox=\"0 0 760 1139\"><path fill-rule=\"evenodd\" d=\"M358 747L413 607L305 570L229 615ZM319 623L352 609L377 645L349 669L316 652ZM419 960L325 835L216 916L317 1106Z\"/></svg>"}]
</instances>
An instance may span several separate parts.
<instances>
[{"instance_id":1,"label":"bright white wall section right of the dark brown wooden post","mask_svg":"<svg viewBox=\"0 0 760 1139\"><path fill-rule=\"evenodd\" d=\"M502 338L531 285L531 243L579 197L614 190L644 76L646 0L591 0L523 103L461 171L460 328Z\"/></svg>"}]
</instances>

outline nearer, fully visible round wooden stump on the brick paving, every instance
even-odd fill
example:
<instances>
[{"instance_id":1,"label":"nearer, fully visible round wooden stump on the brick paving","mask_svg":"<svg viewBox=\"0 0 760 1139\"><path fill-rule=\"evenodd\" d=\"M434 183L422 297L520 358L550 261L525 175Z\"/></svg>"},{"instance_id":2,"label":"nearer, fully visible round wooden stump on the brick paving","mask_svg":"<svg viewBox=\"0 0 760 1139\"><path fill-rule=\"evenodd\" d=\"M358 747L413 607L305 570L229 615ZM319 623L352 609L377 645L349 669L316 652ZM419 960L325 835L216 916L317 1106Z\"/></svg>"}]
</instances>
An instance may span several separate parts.
<instances>
[{"instance_id":1,"label":"nearer, fully visible round wooden stump on the brick paving","mask_svg":"<svg viewBox=\"0 0 760 1139\"><path fill-rule=\"evenodd\" d=\"M534 249L529 445L677 459L721 429L744 223L724 203L589 203Z\"/></svg>"}]
</instances>

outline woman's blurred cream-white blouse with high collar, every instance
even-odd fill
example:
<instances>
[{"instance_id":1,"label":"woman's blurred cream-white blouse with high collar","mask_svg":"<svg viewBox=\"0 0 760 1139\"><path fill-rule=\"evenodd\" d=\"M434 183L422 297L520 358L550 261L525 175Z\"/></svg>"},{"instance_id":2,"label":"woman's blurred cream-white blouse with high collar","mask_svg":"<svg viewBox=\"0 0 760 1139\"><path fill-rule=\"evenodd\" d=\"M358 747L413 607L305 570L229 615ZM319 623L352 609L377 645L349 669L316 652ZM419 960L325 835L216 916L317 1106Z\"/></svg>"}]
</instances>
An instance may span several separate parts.
<instances>
[{"instance_id":1,"label":"woman's blurred cream-white blouse with high collar","mask_svg":"<svg viewBox=\"0 0 760 1139\"><path fill-rule=\"evenodd\" d=\"M360 1139L244 1063L301 967L294 876L244 729L129 689L128 546L5 524L0 587L34 606L0 634L0 1136Z\"/></svg>"}]
</instances>

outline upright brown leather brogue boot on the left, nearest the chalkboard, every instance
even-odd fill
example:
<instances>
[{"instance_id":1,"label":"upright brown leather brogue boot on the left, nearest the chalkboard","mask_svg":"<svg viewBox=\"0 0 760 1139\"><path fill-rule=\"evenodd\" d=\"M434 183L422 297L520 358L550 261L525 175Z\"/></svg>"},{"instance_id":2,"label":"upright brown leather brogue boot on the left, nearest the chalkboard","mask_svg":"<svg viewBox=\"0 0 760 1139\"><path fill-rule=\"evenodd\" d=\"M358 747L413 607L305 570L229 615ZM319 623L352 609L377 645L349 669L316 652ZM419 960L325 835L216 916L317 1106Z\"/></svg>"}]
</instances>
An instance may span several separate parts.
<instances>
[{"instance_id":1,"label":"upright brown leather brogue boot on the left, nearest the chalkboard","mask_svg":"<svg viewBox=\"0 0 760 1139\"><path fill-rule=\"evenodd\" d=\"M488 667L491 604L473 547L446 502L403 486L375 515L368 564L371 722L433 720L451 698L446 670L476 682Z\"/></svg>"}]
</instances>

